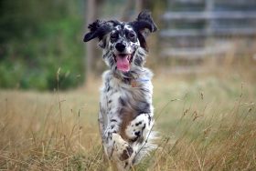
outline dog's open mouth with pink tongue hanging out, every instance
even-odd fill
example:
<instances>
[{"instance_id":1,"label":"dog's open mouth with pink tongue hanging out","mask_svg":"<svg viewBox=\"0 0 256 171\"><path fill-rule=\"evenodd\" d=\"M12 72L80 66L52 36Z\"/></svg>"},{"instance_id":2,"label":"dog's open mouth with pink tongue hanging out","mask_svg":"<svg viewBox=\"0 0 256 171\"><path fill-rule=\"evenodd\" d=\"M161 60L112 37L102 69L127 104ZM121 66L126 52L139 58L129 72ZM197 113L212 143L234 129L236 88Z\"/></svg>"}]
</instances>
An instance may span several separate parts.
<instances>
[{"instance_id":1,"label":"dog's open mouth with pink tongue hanging out","mask_svg":"<svg viewBox=\"0 0 256 171\"><path fill-rule=\"evenodd\" d=\"M122 72L130 71L130 64L133 60L132 54L115 54L114 59L116 62L117 69Z\"/></svg>"}]
</instances>

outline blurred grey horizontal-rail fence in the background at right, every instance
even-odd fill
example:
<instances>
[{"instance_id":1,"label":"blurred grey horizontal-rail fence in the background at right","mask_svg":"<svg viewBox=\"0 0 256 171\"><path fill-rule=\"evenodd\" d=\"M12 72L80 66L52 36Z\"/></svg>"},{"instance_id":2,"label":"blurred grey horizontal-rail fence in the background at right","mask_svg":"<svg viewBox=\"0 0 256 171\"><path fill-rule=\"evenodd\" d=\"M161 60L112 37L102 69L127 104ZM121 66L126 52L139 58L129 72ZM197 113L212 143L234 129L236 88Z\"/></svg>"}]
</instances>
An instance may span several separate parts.
<instances>
[{"instance_id":1,"label":"blurred grey horizontal-rail fence in the background at right","mask_svg":"<svg viewBox=\"0 0 256 171\"><path fill-rule=\"evenodd\" d=\"M169 0L160 33L167 58L196 60L227 53L256 53L256 0Z\"/></svg>"}]
</instances>

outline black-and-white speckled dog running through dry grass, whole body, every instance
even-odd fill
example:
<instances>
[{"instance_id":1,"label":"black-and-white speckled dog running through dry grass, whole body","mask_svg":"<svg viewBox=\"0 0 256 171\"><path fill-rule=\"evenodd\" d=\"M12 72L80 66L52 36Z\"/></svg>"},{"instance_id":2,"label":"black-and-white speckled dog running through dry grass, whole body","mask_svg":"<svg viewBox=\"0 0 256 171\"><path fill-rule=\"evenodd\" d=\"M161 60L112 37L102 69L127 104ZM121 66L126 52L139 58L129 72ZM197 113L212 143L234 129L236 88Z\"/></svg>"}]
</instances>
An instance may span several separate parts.
<instances>
[{"instance_id":1,"label":"black-and-white speckled dog running through dry grass, whole body","mask_svg":"<svg viewBox=\"0 0 256 171\"><path fill-rule=\"evenodd\" d=\"M118 170L129 170L155 149L152 131L153 74L144 68L146 37L156 31L149 12L133 22L96 20L84 42L99 38L110 70L102 75L99 125L106 156Z\"/></svg>"}]
</instances>

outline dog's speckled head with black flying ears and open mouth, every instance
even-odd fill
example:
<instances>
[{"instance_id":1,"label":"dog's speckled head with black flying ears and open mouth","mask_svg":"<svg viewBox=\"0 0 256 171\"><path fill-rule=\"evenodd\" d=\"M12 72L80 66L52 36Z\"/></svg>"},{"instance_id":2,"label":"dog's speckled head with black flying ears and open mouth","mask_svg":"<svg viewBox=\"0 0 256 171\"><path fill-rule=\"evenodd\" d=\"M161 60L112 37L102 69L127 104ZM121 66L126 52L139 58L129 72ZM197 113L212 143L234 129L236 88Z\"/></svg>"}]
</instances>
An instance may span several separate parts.
<instances>
[{"instance_id":1,"label":"dog's speckled head with black flying ears and open mouth","mask_svg":"<svg viewBox=\"0 0 256 171\"><path fill-rule=\"evenodd\" d=\"M90 32L83 41L98 38L103 48L103 58L112 70L129 73L144 65L145 39L157 30L149 12L140 13L133 22L96 20L88 26Z\"/></svg>"}]
</instances>

